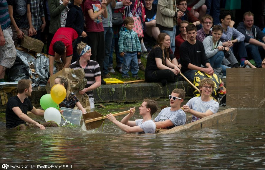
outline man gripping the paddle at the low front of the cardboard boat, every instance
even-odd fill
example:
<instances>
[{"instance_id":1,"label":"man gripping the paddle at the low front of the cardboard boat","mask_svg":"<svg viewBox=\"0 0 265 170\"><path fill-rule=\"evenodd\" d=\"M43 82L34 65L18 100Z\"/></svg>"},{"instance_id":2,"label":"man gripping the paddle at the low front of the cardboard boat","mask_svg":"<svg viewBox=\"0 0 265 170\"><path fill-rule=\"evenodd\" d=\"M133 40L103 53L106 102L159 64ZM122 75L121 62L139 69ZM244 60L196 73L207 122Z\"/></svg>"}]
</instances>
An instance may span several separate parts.
<instances>
[{"instance_id":1,"label":"man gripping the paddle at the low front of the cardboard boat","mask_svg":"<svg viewBox=\"0 0 265 170\"><path fill-rule=\"evenodd\" d=\"M144 99L143 103L139 107L139 112L140 115L143 116L143 119L129 121L135 113L135 108L130 108L130 113L126 115L121 122L117 121L111 113L107 115L107 118L126 133L155 133L155 123L152 120L152 115L157 110L158 105L155 100Z\"/></svg>"}]
</instances>

